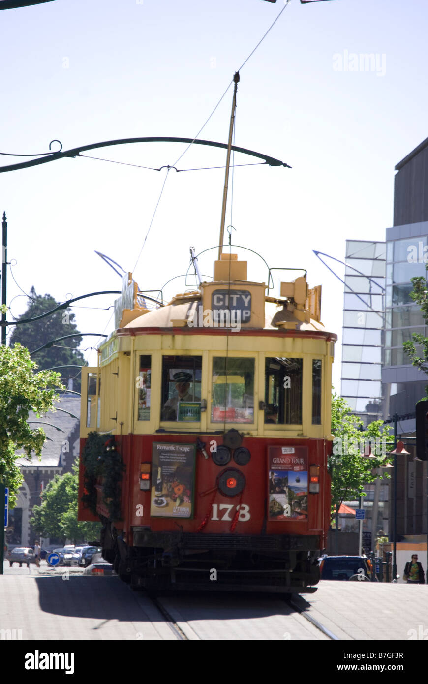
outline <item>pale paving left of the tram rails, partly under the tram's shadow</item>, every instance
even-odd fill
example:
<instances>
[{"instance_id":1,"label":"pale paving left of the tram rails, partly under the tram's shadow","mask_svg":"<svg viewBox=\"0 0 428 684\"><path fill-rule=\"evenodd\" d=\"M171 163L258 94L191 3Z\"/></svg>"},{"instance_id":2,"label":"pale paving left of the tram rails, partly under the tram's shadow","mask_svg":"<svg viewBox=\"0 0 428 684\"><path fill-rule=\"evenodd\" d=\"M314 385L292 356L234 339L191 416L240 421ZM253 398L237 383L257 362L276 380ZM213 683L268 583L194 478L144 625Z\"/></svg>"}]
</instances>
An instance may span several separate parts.
<instances>
[{"instance_id":1,"label":"pale paving left of the tram rails, partly under the tram's shadow","mask_svg":"<svg viewBox=\"0 0 428 684\"><path fill-rule=\"evenodd\" d=\"M0 629L21 629L23 640L176 639L152 602L118 577L5 575Z\"/></svg>"}]
</instances>

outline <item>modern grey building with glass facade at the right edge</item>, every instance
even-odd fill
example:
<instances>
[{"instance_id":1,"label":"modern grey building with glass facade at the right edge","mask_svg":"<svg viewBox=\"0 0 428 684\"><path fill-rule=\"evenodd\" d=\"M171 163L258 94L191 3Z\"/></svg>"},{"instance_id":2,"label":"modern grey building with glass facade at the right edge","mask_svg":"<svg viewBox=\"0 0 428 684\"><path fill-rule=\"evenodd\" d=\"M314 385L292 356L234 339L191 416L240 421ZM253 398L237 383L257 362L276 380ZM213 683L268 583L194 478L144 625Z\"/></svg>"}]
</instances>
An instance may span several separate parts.
<instances>
[{"instance_id":1,"label":"modern grey building with glass facade at the right edge","mask_svg":"<svg viewBox=\"0 0 428 684\"><path fill-rule=\"evenodd\" d=\"M394 415L398 416L397 434L410 451L410 456L397 458L400 540L427 534L427 462L414 460L411 438L415 405L427 395L428 377L412 366L403 343L414 332L428 337L420 307L410 297L411 278L427 278L428 138L395 170L394 224L386 229L385 242L349 240L346 245L342 396L364 425L383 418L391 421L392 428ZM366 495L364 529L382 527L390 534L392 488L388 493L385 482L378 481L366 488ZM377 521L371 523L373 507Z\"/></svg>"}]
</instances>

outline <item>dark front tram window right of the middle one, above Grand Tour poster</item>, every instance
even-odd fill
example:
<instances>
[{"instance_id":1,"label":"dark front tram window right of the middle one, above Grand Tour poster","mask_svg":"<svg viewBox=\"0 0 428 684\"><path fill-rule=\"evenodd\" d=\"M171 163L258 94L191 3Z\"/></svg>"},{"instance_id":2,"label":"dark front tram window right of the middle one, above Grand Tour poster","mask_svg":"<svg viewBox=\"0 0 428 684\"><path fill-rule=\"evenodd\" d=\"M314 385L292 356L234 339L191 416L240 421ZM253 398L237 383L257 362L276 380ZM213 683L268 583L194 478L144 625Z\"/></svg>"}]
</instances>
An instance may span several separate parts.
<instances>
[{"instance_id":1,"label":"dark front tram window right of the middle one, above Grand Tour poster","mask_svg":"<svg viewBox=\"0 0 428 684\"><path fill-rule=\"evenodd\" d=\"M302 424L302 358L266 358L265 423Z\"/></svg>"}]
</instances>

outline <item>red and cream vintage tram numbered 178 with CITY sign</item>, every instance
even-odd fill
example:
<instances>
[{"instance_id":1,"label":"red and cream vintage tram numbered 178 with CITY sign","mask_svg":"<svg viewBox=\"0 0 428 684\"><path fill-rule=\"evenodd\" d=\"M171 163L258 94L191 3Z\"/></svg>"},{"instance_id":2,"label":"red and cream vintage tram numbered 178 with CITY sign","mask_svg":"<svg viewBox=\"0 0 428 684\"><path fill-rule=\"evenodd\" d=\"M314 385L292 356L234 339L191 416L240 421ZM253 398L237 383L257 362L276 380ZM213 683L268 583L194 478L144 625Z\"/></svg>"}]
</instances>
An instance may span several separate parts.
<instances>
[{"instance_id":1,"label":"red and cream vintage tram numbered 178 with CITY sign","mask_svg":"<svg viewBox=\"0 0 428 684\"><path fill-rule=\"evenodd\" d=\"M132 274L82 369L79 520L134 588L312 592L330 522L332 361L321 286L274 296L220 250L150 308Z\"/></svg>"}]
</instances>

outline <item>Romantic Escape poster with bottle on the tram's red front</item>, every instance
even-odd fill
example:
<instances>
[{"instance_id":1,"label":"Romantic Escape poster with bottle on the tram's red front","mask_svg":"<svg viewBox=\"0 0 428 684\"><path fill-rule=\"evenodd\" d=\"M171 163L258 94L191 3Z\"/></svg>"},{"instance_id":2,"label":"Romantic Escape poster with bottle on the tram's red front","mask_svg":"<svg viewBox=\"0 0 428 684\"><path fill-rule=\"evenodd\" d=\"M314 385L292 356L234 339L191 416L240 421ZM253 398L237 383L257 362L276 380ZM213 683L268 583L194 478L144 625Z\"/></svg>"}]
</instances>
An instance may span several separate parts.
<instances>
[{"instance_id":1,"label":"Romantic Escape poster with bottle on the tram's red front","mask_svg":"<svg viewBox=\"0 0 428 684\"><path fill-rule=\"evenodd\" d=\"M152 445L150 516L193 518L195 445Z\"/></svg>"}]
</instances>

